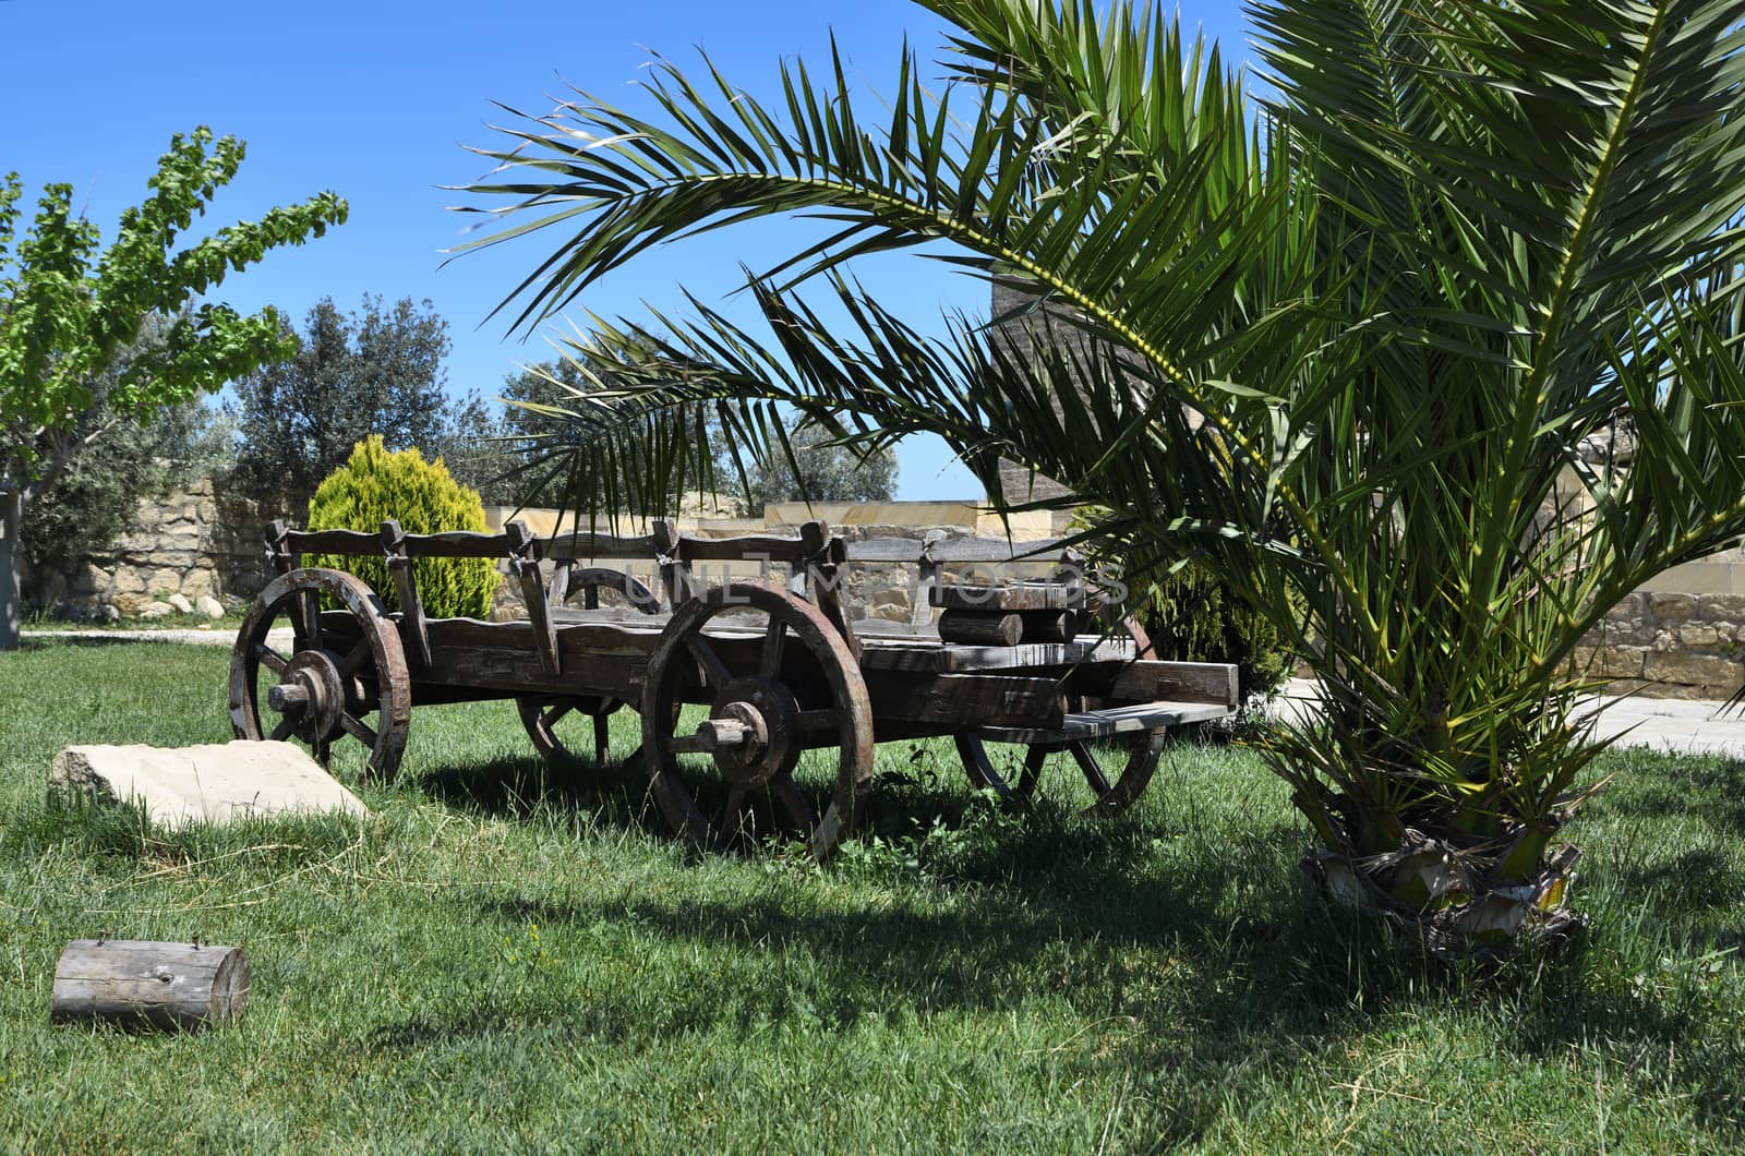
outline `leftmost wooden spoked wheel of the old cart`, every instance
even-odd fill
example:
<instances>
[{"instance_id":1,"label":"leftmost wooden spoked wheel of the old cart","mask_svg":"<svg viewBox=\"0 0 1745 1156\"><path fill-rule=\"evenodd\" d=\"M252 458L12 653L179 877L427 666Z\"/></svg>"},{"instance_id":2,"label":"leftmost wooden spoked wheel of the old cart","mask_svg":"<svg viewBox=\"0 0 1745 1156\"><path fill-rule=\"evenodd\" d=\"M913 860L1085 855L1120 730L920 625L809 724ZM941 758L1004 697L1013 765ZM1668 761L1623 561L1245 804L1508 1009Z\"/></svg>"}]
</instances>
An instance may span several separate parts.
<instances>
[{"instance_id":1,"label":"leftmost wooden spoked wheel of the old cart","mask_svg":"<svg viewBox=\"0 0 1745 1156\"><path fill-rule=\"evenodd\" d=\"M321 613L321 595L344 609ZM267 639L279 620L293 629L291 653ZM262 711L265 707L265 711ZM375 712L375 725L365 716ZM237 739L300 739L325 765L335 739L370 747L370 770L393 779L412 723L412 678L400 630L382 601L358 578L333 569L293 569L274 578L236 636L230 653L230 728Z\"/></svg>"}]
</instances>

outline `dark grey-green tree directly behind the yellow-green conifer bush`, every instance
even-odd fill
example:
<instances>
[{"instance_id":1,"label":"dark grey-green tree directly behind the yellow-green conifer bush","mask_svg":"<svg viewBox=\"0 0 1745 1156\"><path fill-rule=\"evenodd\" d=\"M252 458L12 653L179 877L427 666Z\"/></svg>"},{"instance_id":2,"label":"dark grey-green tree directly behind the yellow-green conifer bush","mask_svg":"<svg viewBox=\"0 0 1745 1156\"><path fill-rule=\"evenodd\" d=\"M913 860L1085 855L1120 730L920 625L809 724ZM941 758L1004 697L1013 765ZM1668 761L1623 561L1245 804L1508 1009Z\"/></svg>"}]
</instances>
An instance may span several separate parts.
<instances>
[{"instance_id":1,"label":"dark grey-green tree directly behind the yellow-green conifer bush","mask_svg":"<svg viewBox=\"0 0 1745 1156\"><path fill-rule=\"evenodd\" d=\"M448 347L448 321L429 300L365 297L351 314L318 300L297 354L236 382L239 492L269 510L302 510L368 437L441 456L468 416L468 402L445 389Z\"/></svg>"}]
</instances>

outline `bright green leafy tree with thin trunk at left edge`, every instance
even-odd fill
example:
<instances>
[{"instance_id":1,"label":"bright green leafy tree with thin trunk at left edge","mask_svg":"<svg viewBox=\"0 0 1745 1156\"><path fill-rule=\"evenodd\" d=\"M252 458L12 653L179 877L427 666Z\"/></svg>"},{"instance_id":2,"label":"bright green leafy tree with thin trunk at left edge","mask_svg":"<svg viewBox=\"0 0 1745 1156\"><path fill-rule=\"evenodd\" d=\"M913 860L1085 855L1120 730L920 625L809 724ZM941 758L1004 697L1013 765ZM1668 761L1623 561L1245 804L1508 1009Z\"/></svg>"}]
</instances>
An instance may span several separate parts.
<instances>
[{"instance_id":1,"label":"bright green leafy tree with thin trunk at left edge","mask_svg":"<svg viewBox=\"0 0 1745 1156\"><path fill-rule=\"evenodd\" d=\"M199 127L176 134L99 251L98 227L72 211L72 185L47 185L17 232L17 175L0 185L0 650L17 648L19 540L35 505L89 445L127 421L148 421L199 393L291 353L272 309L243 316L194 302L267 250L302 244L346 220L323 192L258 222L239 222L176 248L215 192L243 164L243 141ZM105 370L145 318L174 318L161 347ZM110 421L82 431L99 407Z\"/></svg>"}]
</instances>

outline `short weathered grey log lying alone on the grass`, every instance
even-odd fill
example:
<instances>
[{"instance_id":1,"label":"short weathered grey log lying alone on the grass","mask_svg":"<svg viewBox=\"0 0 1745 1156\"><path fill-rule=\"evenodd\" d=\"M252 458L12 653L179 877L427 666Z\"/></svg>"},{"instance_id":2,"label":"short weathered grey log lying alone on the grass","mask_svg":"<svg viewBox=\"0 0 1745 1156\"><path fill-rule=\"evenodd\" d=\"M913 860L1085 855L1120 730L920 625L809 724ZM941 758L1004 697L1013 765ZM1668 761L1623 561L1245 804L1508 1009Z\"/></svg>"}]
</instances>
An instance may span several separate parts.
<instances>
[{"instance_id":1,"label":"short weathered grey log lying alone on the grass","mask_svg":"<svg viewBox=\"0 0 1745 1156\"><path fill-rule=\"evenodd\" d=\"M133 1029L223 1023L248 1004L248 957L234 946L73 939L54 967L54 1023Z\"/></svg>"}]
</instances>

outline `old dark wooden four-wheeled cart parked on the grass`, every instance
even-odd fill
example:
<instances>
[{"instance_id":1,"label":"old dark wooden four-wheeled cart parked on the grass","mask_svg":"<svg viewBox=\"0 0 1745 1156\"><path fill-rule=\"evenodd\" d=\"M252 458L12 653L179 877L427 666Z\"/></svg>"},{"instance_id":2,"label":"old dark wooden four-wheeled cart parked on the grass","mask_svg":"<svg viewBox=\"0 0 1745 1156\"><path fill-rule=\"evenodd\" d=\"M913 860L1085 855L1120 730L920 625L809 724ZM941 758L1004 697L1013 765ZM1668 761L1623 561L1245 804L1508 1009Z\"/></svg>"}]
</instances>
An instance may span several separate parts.
<instances>
[{"instance_id":1,"label":"old dark wooden four-wheeled cart parked on the grass","mask_svg":"<svg viewBox=\"0 0 1745 1156\"><path fill-rule=\"evenodd\" d=\"M1005 796L1028 796L1047 758L1066 753L1094 807L1119 810L1150 782L1167 728L1237 705L1235 667L1139 658L1143 636L1092 632L1078 559L1059 543L845 543L824 522L792 538L696 538L665 522L633 538L539 538L520 522L499 534L407 534L387 522L379 536L274 524L267 554L276 578L230 664L237 737L298 739L323 760L349 737L387 777L414 705L513 698L546 758L565 754L565 719L586 718L597 760L607 716L628 705L642 716L649 791L698 845L782 824L829 854L855 828L874 742L888 739L951 735L972 782ZM400 609L351 575L302 566L305 554L384 557ZM414 571L436 557L506 564L527 616L428 618ZM853 618L843 580L860 564L913 566L942 608L939 625L923 622L930 611L907 623ZM989 573L1037 566L1057 573ZM270 634L277 625L290 625L290 646ZM681 725L688 704L707 718ZM1091 742L1122 735L1131 754L1110 777ZM1028 747L1016 782L988 742ZM822 784L797 774L806 751L836 751Z\"/></svg>"}]
</instances>

